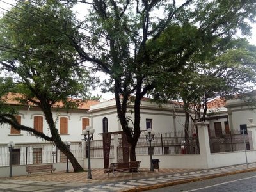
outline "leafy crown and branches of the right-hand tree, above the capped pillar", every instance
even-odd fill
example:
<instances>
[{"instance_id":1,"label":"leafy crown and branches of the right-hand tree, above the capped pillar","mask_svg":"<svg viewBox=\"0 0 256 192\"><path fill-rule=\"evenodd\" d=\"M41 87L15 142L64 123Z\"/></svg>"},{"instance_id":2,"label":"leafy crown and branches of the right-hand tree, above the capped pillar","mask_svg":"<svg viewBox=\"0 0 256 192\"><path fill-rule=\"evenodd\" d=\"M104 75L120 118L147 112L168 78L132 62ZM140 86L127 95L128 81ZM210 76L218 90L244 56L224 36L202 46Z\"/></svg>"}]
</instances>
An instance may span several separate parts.
<instances>
[{"instance_id":1,"label":"leafy crown and branches of the right-hand tree, above the capped pillar","mask_svg":"<svg viewBox=\"0 0 256 192\"><path fill-rule=\"evenodd\" d=\"M202 61L189 76L188 100L193 121L204 121L207 102L216 97L233 97L254 90L256 83L256 47L245 39L230 40L212 58ZM182 88L181 88L182 92ZM201 111L203 109L203 113Z\"/></svg>"}]
</instances>

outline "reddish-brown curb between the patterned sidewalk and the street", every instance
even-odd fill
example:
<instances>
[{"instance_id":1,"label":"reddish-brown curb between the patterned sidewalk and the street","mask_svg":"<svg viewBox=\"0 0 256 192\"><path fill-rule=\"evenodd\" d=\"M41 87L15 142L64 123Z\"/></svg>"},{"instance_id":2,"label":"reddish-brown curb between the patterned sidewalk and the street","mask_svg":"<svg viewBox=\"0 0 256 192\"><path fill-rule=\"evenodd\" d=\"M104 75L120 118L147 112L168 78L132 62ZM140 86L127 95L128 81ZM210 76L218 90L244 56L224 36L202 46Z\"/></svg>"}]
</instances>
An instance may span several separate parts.
<instances>
[{"instance_id":1,"label":"reddish-brown curb between the patterned sidewalk and the street","mask_svg":"<svg viewBox=\"0 0 256 192\"><path fill-rule=\"evenodd\" d=\"M223 177L223 176L227 176L227 175L235 175L237 173L246 173L246 172L253 172L253 171L256 171L256 167L255 168L246 168L245 170L236 170L236 171L233 171L233 172L207 175L207 176L202 176L202 177L194 177L192 179L175 180L175 181L172 181L172 182L154 184L154 185L151 185L151 186L143 186L143 187L136 187L136 188L131 188L131 189L124 189L123 191L120 191L120 192L148 191L148 190L151 190L151 189L164 188L164 187L168 187L168 186L175 186L175 185L179 185L179 184L185 184L185 183L188 183L188 182L195 182L195 181L200 181L200 180L205 180L205 179L213 179L213 178L216 178L216 177Z\"/></svg>"}]
</instances>

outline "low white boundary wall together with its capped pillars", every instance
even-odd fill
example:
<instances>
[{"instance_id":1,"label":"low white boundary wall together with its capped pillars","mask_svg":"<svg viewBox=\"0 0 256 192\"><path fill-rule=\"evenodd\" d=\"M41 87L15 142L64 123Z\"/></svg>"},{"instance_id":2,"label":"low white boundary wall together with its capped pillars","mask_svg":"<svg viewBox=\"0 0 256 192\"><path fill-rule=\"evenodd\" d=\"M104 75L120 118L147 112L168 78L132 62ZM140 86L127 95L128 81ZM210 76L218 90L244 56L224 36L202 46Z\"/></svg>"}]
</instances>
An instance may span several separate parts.
<instances>
[{"instance_id":1,"label":"low white boundary wall together with its capped pillars","mask_svg":"<svg viewBox=\"0 0 256 192\"><path fill-rule=\"evenodd\" d=\"M198 122L198 138L200 143L200 154L182 154L182 155L161 155L153 156L153 159L159 159L160 168L218 168L222 166L231 166L234 164L246 163L245 151L225 152L211 154L209 146L208 122ZM256 125L250 124L252 135L256 135ZM256 142L255 140L253 142ZM248 163L256 161L256 150L246 152ZM136 156L137 161L141 161L141 168L150 168L149 156ZM110 159L109 163L113 163ZM114 160L115 161L115 160ZM86 160L84 167L86 167ZM92 168L103 168L103 159L92 159Z\"/></svg>"}]
</instances>

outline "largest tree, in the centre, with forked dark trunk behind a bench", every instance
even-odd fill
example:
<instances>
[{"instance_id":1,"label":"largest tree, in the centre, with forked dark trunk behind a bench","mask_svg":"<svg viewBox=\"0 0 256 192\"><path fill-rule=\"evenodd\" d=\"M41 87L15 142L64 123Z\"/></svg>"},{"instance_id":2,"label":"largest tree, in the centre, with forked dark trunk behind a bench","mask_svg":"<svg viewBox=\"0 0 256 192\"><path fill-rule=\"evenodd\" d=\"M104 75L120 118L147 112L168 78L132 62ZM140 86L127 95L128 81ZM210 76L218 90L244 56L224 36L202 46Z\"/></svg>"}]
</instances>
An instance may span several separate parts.
<instances>
[{"instance_id":1,"label":"largest tree, in the centre, with forked dark trunk behind a bench","mask_svg":"<svg viewBox=\"0 0 256 192\"><path fill-rule=\"evenodd\" d=\"M91 6L90 15L84 21L84 28L91 35L84 36L86 42L79 38L72 41L84 60L110 76L105 86L115 93L116 110L130 144L131 161L136 160L135 147L141 132L141 99L154 91L161 83L159 79L167 77L176 81L177 74L191 58L199 57L217 37L230 38L237 28L248 32L244 19L255 18L254 1L67 2ZM129 127L127 118L131 98L134 129Z\"/></svg>"}]
</instances>

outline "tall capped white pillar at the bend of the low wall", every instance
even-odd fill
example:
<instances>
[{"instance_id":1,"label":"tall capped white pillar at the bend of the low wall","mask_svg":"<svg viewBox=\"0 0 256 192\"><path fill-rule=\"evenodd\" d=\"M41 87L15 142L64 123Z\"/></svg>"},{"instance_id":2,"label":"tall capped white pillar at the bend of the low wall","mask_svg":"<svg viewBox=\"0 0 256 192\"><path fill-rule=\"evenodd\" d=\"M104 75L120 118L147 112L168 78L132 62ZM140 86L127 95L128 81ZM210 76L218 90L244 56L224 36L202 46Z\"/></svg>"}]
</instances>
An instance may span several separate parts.
<instances>
[{"instance_id":1,"label":"tall capped white pillar at the bend of the low wall","mask_svg":"<svg viewBox=\"0 0 256 192\"><path fill-rule=\"evenodd\" d=\"M209 122L197 122L196 125L198 126L198 140L200 147L200 156L202 156L202 168L211 168L211 151L208 133Z\"/></svg>"}]
</instances>

